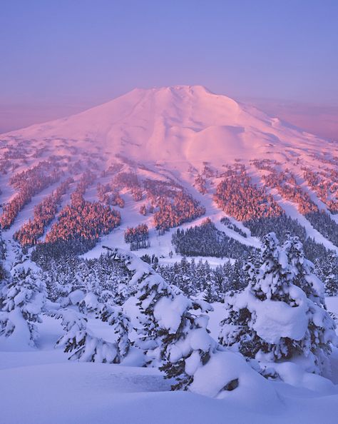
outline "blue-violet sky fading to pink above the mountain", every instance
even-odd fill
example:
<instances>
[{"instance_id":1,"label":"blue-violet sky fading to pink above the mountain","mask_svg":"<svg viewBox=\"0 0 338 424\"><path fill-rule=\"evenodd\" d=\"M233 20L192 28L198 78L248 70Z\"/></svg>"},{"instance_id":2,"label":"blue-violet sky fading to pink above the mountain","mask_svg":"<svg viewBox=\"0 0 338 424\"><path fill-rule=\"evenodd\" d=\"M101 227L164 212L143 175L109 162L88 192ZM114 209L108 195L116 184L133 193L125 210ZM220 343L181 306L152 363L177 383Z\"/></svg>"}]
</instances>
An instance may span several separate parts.
<instances>
[{"instance_id":1,"label":"blue-violet sky fading to pink above the mountain","mask_svg":"<svg viewBox=\"0 0 338 424\"><path fill-rule=\"evenodd\" d=\"M174 84L334 120L337 23L337 0L1 1L0 132Z\"/></svg>"}]
</instances>

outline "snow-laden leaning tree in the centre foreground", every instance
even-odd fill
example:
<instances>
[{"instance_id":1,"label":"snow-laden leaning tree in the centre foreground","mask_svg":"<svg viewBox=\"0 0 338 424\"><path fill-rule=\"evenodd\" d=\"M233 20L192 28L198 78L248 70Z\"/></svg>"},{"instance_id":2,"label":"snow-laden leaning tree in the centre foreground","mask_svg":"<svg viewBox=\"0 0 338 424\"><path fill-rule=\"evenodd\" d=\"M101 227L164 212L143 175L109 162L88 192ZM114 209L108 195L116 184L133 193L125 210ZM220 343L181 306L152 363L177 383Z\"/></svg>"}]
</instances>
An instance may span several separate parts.
<instances>
[{"instance_id":1,"label":"snow-laden leaning tree in the centre foreground","mask_svg":"<svg viewBox=\"0 0 338 424\"><path fill-rule=\"evenodd\" d=\"M136 296L141 326L135 344L145 350L148 363L160 365L166 378L175 378L173 390L187 390L218 347L207 329L209 317L203 314L211 306L184 296L150 267L138 282Z\"/></svg>"}]
</instances>

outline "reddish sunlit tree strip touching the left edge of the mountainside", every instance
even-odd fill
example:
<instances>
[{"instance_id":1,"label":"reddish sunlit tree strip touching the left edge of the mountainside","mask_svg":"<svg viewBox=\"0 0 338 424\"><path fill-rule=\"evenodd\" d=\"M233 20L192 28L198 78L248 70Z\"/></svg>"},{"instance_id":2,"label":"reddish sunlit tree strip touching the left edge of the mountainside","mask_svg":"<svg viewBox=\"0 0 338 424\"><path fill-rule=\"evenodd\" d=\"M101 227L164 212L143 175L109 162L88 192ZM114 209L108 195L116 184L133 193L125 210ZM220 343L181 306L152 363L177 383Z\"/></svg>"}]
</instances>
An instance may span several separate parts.
<instances>
[{"instance_id":1,"label":"reddish sunlit tree strip touching the left edge of the mountainside","mask_svg":"<svg viewBox=\"0 0 338 424\"><path fill-rule=\"evenodd\" d=\"M31 201L32 196L56 183L60 177L61 173L47 161L12 176L9 182L18 193L3 208L0 218L1 228L9 228L19 211Z\"/></svg>"}]
</instances>

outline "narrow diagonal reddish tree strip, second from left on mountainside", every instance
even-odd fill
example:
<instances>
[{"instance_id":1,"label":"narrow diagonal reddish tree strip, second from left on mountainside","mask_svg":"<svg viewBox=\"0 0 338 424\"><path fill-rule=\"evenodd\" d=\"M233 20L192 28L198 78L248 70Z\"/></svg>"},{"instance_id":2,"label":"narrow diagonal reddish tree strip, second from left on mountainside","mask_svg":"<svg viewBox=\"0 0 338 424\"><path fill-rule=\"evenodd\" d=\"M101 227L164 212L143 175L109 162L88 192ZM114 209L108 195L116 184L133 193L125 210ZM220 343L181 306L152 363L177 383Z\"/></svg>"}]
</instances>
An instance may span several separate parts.
<instances>
[{"instance_id":1,"label":"narrow diagonal reddish tree strip, second from left on mountainside","mask_svg":"<svg viewBox=\"0 0 338 424\"><path fill-rule=\"evenodd\" d=\"M18 240L21 246L34 246L43 236L46 226L55 218L63 194L68 191L73 181L73 178L67 178L53 193L34 207L34 218L14 233L14 239Z\"/></svg>"}]
</instances>

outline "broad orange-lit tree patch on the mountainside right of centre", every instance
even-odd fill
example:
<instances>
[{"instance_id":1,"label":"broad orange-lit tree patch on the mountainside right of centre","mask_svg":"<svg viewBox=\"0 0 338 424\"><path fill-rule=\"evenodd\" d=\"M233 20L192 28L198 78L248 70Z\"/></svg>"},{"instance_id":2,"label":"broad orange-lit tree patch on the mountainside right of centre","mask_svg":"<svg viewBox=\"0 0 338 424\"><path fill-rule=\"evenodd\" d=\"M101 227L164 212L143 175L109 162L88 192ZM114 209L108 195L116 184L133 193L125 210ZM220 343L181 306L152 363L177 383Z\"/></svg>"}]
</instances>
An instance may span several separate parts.
<instances>
[{"instance_id":1,"label":"broad orange-lit tree patch on the mountainside right of centre","mask_svg":"<svg viewBox=\"0 0 338 424\"><path fill-rule=\"evenodd\" d=\"M214 201L227 215L233 216L237 221L270 218L284 213L275 199L267 194L265 188L252 184L245 166L229 166L222 176L226 178L218 184Z\"/></svg>"}]
</instances>

